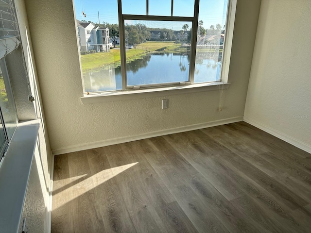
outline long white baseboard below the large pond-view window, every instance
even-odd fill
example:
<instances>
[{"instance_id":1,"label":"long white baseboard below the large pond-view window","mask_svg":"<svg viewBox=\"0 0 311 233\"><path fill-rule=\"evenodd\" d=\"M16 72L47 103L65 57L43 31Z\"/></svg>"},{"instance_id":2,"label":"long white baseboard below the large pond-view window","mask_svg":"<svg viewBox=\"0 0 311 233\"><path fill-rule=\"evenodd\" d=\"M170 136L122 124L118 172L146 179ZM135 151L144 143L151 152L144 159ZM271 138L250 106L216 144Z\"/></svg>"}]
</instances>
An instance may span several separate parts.
<instances>
[{"instance_id":1,"label":"long white baseboard below the large pond-view window","mask_svg":"<svg viewBox=\"0 0 311 233\"><path fill-rule=\"evenodd\" d=\"M71 152L76 152L80 150L94 149L94 148L105 147L105 146L124 143L124 142L131 142L131 141L136 141L136 140L141 140L141 139L146 139L146 138L151 138L151 137L163 136L163 135L172 134L172 133L181 133L181 132L186 132L186 131L191 131L191 130L199 130L199 129L203 129L207 127L213 127L213 126L218 126L218 125L239 122L242 120L243 120L242 116L237 116L237 117L232 117L232 118L210 121L206 123L177 127L173 129L160 130L160 131L155 131L155 132L150 132L150 133L141 133L135 136L120 137L120 138L103 140L99 142L80 144L80 145L76 145L72 147L59 148L59 149L52 150L52 153L54 155L71 153Z\"/></svg>"}]
</instances>

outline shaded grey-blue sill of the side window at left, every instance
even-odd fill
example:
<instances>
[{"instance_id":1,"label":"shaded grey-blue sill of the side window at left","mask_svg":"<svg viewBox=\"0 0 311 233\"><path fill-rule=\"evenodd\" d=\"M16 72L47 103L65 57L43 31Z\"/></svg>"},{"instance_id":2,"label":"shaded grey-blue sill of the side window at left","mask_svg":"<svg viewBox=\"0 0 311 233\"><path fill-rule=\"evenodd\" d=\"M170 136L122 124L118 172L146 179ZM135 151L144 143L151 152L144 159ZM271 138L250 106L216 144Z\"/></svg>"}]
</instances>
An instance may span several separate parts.
<instances>
[{"instance_id":1,"label":"shaded grey-blue sill of the side window at left","mask_svg":"<svg viewBox=\"0 0 311 233\"><path fill-rule=\"evenodd\" d=\"M39 126L38 120L17 125L0 167L1 232L18 232Z\"/></svg>"}]
</instances>

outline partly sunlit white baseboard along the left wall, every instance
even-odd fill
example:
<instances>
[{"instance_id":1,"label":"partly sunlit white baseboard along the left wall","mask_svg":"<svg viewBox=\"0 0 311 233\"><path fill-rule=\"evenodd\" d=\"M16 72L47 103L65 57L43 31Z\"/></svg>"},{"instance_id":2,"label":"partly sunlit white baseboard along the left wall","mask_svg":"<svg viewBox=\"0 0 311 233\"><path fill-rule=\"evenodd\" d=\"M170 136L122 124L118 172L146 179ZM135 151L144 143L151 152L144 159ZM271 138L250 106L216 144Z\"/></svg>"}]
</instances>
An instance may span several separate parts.
<instances>
[{"instance_id":1,"label":"partly sunlit white baseboard along the left wall","mask_svg":"<svg viewBox=\"0 0 311 233\"><path fill-rule=\"evenodd\" d=\"M52 226L52 194L53 194L53 176L54 176L54 154L51 151L50 154L51 158L51 165L50 165L50 187L48 192L48 205L46 208L46 224L45 224L45 233L51 233L51 226Z\"/></svg>"}]
</instances>

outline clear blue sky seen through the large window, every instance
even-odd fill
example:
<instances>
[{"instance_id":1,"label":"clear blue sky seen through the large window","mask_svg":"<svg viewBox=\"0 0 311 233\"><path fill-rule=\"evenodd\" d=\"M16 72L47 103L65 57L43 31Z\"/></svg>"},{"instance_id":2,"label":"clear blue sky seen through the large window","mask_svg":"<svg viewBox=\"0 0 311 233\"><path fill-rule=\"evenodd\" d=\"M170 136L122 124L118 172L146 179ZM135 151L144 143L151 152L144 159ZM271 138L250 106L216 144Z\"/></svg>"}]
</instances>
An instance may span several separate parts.
<instances>
[{"instance_id":1,"label":"clear blue sky seen through the large window","mask_svg":"<svg viewBox=\"0 0 311 233\"><path fill-rule=\"evenodd\" d=\"M228 0L200 0L199 20L203 20L204 28L220 23L225 25L225 14ZM174 0L173 16L192 17L194 0ZM98 23L118 23L117 0L74 0L76 18ZM86 14L86 17L82 13ZM146 0L122 0L122 14L146 15ZM171 0L149 0L149 15L170 16ZM125 23L136 24L140 21L131 20ZM141 21L142 22L142 21ZM144 23L146 21L143 21ZM147 27L169 28L181 30L187 22L150 22ZM145 23L146 24L146 23ZM191 27L190 23L188 23Z\"/></svg>"}]
</instances>

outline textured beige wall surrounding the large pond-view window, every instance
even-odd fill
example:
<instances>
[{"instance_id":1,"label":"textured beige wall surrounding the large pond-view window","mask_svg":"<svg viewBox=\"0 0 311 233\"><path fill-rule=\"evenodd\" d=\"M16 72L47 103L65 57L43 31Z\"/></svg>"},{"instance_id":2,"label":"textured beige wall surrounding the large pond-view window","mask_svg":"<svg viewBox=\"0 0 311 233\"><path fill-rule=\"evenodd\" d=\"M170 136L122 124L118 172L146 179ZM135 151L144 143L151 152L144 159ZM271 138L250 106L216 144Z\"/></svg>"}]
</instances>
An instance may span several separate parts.
<instances>
[{"instance_id":1,"label":"textured beige wall surrounding the large pond-view window","mask_svg":"<svg viewBox=\"0 0 311 233\"><path fill-rule=\"evenodd\" d=\"M27 0L26 8L52 150L243 115L260 0L238 0L221 112L219 91L83 105L72 1Z\"/></svg>"}]
</instances>

